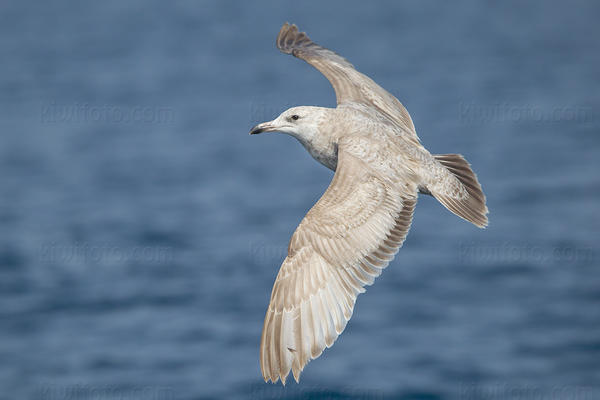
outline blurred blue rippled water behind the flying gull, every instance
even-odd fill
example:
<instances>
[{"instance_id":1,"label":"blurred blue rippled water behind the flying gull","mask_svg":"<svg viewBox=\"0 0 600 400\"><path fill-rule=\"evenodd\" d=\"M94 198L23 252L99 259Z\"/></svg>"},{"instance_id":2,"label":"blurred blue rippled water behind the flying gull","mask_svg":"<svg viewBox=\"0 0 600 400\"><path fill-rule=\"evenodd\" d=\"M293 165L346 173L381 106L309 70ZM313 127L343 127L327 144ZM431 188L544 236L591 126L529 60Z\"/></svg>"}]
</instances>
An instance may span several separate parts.
<instances>
[{"instance_id":1,"label":"blurred blue rippled water behind the flying gull","mask_svg":"<svg viewBox=\"0 0 600 400\"><path fill-rule=\"evenodd\" d=\"M594 1L0 4L0 398L600 398ZM294 22L462 153L479 230L421 197L335 346L285 388L259 341L332 173L286 135L334 106Z\"/></svg>"}]
</instances>

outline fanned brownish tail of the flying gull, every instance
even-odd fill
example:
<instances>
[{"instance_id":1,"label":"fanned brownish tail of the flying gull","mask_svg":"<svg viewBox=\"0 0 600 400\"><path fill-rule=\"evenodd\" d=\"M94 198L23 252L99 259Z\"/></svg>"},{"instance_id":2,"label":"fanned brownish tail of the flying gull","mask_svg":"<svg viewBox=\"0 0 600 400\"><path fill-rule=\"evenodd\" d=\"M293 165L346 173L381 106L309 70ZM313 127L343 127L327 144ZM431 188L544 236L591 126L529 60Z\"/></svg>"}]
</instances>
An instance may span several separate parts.
<instances>
[{"instance_id":1,"label":"fanned brownish tail of the flying gull","mask_svg":"<svg viewBox=\"0 0 600 400\"><path fill-rule=\"evenodd\" d=\"M485 195L467 160L460 154L437 154L434 157L450 174L443 174L446 176L441 182L427 185L428 191L454 214L485 228L488 224Z\"/></svg>"}]
</instances>

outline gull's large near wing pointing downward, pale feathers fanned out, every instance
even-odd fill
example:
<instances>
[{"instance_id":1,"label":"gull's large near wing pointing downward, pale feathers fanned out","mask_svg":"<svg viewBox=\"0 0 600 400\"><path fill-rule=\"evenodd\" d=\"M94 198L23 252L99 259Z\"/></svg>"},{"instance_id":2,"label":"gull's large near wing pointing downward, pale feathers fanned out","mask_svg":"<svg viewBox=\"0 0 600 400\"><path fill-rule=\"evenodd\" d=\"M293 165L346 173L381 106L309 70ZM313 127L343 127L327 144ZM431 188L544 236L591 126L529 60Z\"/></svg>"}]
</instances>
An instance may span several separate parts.
<instances>
[{"instance_id":1,"label":"gull's large near wing pointing downward, pale feathers fanned out","mask_svg":"<svg viewBox=\"0 0 600 400\"><path fill-rule=\"evenodd\" d=\"M344 330L356 296L381 274L410 228L416 186L371 167L376 155L364 144L340 141L331 184L290 240L263 326L265 381L285 384L290 369L298 381Z\"/></svg>"}]
</instances>

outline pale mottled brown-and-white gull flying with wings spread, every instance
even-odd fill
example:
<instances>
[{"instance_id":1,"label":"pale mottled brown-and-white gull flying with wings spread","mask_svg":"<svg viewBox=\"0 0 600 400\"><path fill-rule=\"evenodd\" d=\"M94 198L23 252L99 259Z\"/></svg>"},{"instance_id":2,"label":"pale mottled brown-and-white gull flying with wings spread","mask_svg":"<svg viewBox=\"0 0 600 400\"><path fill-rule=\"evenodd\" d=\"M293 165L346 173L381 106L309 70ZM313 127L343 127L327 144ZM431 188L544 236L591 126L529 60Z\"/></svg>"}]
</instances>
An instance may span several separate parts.
<instances>
[{"instance_id":1,"label":"pale mottled brown-and-white gull flying with wings spread","mask_svg":"<svg viewBox=\"0 0 600 400\"><path fill-rule=\"evenodd\" d=\"M487 226L485 195L459 154L432 155L392 94L338 54L285 23L276 40L329 80L337 107L293 107L251 135L282 132L335 171L323 196L292 235L265 316L260 367L265 382L296 382L331 347L356 297L394 258L411 226L418 193Z\"/></svg>"}]
</instances>

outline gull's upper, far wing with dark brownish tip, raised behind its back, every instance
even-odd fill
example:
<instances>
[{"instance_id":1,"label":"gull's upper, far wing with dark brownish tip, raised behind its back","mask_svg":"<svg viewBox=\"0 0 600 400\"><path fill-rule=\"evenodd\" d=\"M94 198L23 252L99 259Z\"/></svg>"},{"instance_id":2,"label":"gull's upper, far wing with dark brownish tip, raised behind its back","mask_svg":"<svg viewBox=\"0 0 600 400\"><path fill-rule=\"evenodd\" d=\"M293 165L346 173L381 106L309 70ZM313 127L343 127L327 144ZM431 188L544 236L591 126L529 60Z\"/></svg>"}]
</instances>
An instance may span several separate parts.
<instances>
[{"instance_id":1,"label":"gull's upper, far wing with dark brownish tip, raised behind its back","mask_svg":"<svg viewBox=\"0 0 600 400\"><path fill-rule=\"evenodd\" d=\"M331 82L338 104L359 103L375 107L419 142L410 114L396 97L361 74L345 58L319 46L296 25L285 23L277 35L277 47L318 69Z\"/></svg>"}]
</instances>

